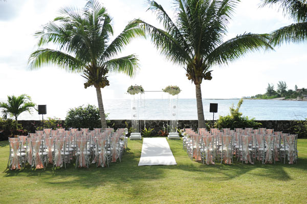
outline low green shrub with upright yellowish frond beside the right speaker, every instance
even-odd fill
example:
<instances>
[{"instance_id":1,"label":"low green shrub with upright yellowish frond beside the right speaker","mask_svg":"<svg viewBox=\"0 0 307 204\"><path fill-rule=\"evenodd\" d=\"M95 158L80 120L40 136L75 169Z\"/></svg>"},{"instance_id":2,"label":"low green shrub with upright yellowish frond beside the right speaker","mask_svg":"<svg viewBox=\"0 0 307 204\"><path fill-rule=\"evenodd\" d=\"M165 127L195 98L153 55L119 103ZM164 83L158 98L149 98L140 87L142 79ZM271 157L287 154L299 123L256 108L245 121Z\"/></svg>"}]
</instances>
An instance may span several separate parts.
<instances>
[{"instance_id":1,"label":"low green shrub with upright yellowish frond beside the right speaker","mask_svg":"<svg viewBox=\"0 0 307 204\"><path fill-rule=\"evenodd\" d=\"M240 99L237 107L234 105L229 108L230 115L220 116L215 123L215 126L219 129L221 128L245 128L245 127L253 127L258 128L262 125L259 122L256 122L254 118L249 119L247 116L242 116L242 112L239 112L239 109L243 103L243 99Z\"/></svg>"}]
</instances>

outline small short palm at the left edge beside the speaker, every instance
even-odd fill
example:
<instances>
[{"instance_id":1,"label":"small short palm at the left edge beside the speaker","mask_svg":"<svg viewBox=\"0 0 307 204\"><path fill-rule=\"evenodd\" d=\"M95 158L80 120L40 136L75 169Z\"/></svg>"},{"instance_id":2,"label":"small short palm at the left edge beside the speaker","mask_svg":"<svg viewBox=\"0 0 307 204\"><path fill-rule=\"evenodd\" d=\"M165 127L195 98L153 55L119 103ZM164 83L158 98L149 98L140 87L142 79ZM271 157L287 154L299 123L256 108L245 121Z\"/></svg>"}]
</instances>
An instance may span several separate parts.
<instances>
[{"instance_id":1,"label":"small short palm at the left edge beside the speaker","mask_svg":"<svg viewBox=\"0 0 307 204\"><path fill-rule=\"evenodd\" d=\"M35 109L36 104L32 102L31 97L22 94L20 96L8 96L8 102L0 102L0 108L2 108L2 114L4 118L8 115L15 117L15 124L17 128L17 117L25 111L31 114L32 108Z\"/></svg>"}]
</instances>

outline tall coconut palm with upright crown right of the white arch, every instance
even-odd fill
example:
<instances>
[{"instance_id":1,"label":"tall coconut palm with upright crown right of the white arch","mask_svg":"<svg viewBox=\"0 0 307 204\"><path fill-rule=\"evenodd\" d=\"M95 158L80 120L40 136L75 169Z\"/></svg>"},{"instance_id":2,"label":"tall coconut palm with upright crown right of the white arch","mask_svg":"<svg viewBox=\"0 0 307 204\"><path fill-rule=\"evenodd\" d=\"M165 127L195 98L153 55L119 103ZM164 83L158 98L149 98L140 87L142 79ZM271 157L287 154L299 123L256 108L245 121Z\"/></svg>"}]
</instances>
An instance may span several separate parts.
<instances>
[{"instance_id":1,"label":"tall coconut palm with upright crown right of the white arch","mask_svg":"<svg viewBox=\"0 0 307 204\"><path fill-rule=\"evenodd\" d=\"M228 64L255 50L272 49L268 34L244 33L223 41L227 25L239 0L174 0L173 21L161 5L148 1L164 30L136 19L166 59L183 66L195 84L199 128L205 127L201 83L211 80L214 65Z\"/></svg>"}]
</instances>

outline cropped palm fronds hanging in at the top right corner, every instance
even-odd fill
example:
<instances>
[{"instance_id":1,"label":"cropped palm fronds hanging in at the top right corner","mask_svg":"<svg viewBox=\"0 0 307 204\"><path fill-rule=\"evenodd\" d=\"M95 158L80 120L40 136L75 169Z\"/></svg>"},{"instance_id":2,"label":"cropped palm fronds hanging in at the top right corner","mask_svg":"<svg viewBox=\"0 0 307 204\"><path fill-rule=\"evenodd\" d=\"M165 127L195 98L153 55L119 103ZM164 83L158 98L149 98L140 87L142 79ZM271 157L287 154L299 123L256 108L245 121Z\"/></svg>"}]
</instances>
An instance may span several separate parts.
<instances>
[{"instance_id":1,"label":"cropped palm fronds hanging in at the top right corner","mask_svg":"<svg viewBox=\"0 0 307 204\"><path fill-rule=\"evenodd\" d=\"M262 7L278 5L285 15L296 21L295 24L279 28L271 33L273 46L283 42L304 42L307 39L307 1L306 0L263 0Z\"/></svg>"}]
</instances>

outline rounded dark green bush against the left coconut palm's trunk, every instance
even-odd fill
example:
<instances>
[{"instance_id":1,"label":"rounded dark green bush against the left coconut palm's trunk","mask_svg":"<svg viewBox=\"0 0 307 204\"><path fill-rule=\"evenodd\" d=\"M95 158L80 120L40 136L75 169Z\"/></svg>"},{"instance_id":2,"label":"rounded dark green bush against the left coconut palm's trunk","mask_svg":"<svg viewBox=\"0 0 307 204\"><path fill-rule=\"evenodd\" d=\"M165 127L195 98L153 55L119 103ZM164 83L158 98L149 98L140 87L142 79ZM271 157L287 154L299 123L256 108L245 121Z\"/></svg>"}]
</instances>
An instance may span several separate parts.
<instances>
[{"instance_id":1,"label":"rounded dark green bush against the left coconut palm's trunk","mask_svg":"<svg viewBox=\"0 0 307 204\"><path fill-rule=\"evenodd\" d=\"M73 128L100 128L100 115L99 109L88 104L87 106L79 106L71 108L65 118L65 127Z\"/></svg>"}]
</instances>

